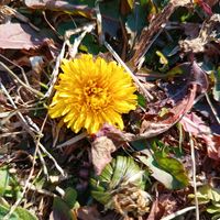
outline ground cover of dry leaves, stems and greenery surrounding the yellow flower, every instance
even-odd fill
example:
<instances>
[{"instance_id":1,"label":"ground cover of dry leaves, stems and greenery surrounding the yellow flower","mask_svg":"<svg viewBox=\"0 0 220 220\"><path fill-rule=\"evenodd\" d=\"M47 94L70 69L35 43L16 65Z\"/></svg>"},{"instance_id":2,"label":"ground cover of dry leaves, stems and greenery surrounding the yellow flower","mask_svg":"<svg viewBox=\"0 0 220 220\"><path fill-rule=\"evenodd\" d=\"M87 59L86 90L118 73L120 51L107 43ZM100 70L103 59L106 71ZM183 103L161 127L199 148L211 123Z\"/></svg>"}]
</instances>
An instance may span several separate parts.
<instances>
[{"instance_id":1,"label":"ground cover of dry leaves, stems and greenery surrounding the yellow flower","mask_svg":"<svg viewBox=\"0 0 220 220\"><path fill-rule=\"evenodd\" d=\"M0 219L220 218L219 11L215 0L1 1ZM47 116L63 58L80 54L135 82L123 131L75 134Z\"/></svg>"}]
</instances>

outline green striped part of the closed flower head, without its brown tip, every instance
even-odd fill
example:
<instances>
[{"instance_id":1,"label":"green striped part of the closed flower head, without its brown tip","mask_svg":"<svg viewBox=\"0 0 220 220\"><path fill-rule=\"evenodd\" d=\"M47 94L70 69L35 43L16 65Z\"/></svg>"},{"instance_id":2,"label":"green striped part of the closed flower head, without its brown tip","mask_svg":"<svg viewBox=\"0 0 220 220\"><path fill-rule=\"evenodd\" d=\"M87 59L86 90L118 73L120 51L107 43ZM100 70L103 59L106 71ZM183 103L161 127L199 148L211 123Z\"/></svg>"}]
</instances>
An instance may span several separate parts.
<instances>
[{"instance_id":1,"label":"green striped part of the closed flower head, without its brown tip","mask_svg":"<svg viewBox=\"0 0 220 220\"><path fill-rule=\"evenodd\" d=\"M117 156L102 170L100 176L90 179L91 196L99 202L111 204L112 193L129 183L140 188L145 186L145 172L132 157ZM109 206L110 206L109 204Z\"/></svg>"}]
</instances>

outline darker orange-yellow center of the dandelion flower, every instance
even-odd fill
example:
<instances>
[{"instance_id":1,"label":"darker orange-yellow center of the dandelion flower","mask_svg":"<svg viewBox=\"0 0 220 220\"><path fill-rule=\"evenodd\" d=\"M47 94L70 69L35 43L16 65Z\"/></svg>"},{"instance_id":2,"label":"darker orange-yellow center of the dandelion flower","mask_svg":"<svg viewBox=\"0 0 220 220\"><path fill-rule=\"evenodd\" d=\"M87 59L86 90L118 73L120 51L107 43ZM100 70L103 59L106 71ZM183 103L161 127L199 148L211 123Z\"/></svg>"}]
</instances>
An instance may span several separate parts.
<instances>
[{"instance_id":1,"label":"darker orange-yellow center of the dandelion flower","mask_svg":"<svg viewBox=\"0 0 220 220\"><path fill-rule=\"evenodd\" d=\"M109 103L109 92L94 80L88 80L84 88L87 107L91 110L101 110Z\"/></svg>"}]
</instances>

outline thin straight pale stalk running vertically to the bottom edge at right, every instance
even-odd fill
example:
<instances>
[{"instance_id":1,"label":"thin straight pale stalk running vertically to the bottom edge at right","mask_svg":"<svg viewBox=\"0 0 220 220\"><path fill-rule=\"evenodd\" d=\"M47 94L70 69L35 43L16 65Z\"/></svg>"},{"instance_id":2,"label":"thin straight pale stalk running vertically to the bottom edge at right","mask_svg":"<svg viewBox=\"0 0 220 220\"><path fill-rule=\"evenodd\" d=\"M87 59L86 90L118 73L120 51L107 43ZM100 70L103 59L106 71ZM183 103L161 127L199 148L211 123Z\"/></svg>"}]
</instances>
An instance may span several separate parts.
<instances>
[{"instance_id":1,"label":"thin straight pale stalk running vertically to the bottom edge at right","mask_svg":"<svg viewBox=\"0 0 220 220\"><path fill-rule=\"evenodd\" d=\"M191 150L191 162L193 162L193 183L194 183L194 194L195 194L195 205L196 205L196 220L199 220L199 202L197 198L197 185L196 185L196 157L195 157L195 146L191 134L189 133L190 138L190 150Z\"/></svg>"}]
</instances>

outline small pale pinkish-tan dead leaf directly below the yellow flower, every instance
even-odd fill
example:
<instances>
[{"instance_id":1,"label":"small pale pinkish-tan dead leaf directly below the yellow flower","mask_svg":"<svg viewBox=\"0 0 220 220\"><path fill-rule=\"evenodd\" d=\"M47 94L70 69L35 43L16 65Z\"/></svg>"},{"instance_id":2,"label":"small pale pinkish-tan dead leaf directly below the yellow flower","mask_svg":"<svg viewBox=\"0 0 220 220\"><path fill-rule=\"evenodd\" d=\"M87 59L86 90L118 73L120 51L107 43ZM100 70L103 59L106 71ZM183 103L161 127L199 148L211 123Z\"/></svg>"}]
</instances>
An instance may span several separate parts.
<instances>
[{"instance_id":1,"label":"small pale pinkish-tan dead leaf directly below the yellow flower","mask_svg":"<svg viewBox=\"0 0 220 220\"><path fill-rule=\"evenodd\" d=\"M92 142L91 160L97 175L100 175L105 166L111 162L111 153L116 150L116 145L107 136L99 136Z\"/></svg>"}]
</instances>

